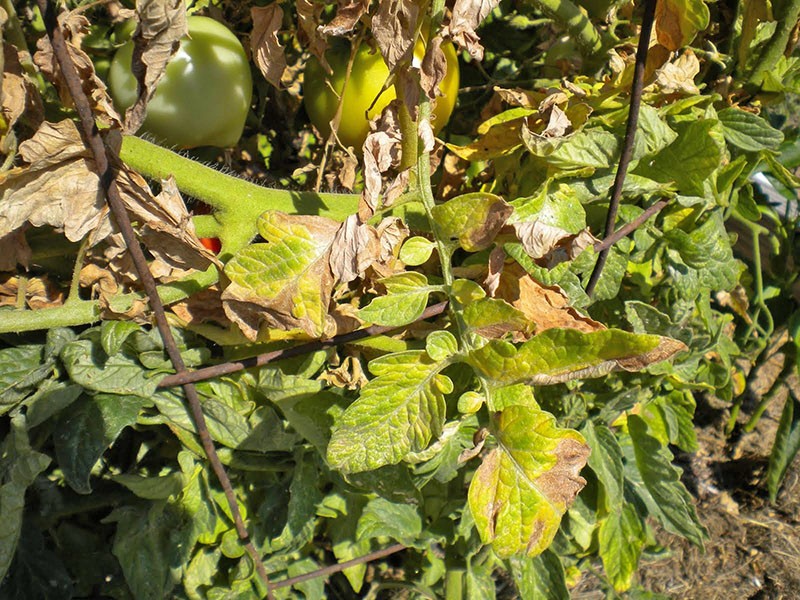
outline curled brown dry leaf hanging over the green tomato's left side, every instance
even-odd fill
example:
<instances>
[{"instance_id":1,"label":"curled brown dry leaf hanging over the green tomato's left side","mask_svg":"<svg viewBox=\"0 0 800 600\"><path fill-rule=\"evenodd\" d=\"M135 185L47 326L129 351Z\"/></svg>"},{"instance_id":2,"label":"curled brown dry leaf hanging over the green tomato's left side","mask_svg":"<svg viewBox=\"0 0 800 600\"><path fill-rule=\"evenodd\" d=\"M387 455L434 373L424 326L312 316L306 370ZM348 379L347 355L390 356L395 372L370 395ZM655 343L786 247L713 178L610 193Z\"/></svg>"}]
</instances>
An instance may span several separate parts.
<instances>
[{"instance_id":1,"label":"curled brown dry leaf hanging over the green tomato's left side","mask_svg":"<svg viewBox=\"0 0 800 600\"><path fill-rule=\"evenodd\" d=\"M145 118L147 103L155 94L170 58L189 29L183 0L137 2L139 26L133 35L131 72L139 84L136 102L125 112L125 131L135 132Z\"/></svg>"}]
</instances>

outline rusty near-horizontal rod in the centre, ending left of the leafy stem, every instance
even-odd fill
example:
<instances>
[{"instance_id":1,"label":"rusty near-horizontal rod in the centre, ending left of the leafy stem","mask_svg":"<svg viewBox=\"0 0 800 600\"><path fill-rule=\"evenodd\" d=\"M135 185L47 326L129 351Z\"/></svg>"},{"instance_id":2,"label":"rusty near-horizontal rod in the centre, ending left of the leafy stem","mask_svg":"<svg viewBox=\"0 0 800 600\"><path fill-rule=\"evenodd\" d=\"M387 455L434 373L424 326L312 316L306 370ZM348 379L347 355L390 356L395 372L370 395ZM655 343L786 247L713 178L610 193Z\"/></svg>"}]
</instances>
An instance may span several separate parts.
<instances>
[{"instance_id":1,"label":"rusty near-horizontal rod in the centre, ending left of the leafy stem","mask_svg":"<svg viewBox=\"0 0 800 600\"><path fill-rule=\"evenodd\" d=\"M432 306L429 306L428 308L425 309L420 318L414 322L418 323L420 321L424 321L425 319L430 319L431 317L440 315L445 311L445 308L447 308L447 302L440 302L439 304L434 304ZM395 331L397 329L400 328L387 327L383 325L372 325L370 327L365 327L364 329L359 329L357 331L351 331L350 333L343 333L341 335L334 336L329 340L314 340L313 342L307 342L305 344L300 344L298 346L293 346L291 348L285 348L283 350L273 350L272 352L259 354L258 356L253 356L252 358L245 358L242 360L235 360L227 363L222 363L219 365L214 365L213 367L205 367L203 369L197 369L196 371L187 371L183 373L176 373L175 375L167 375L166 377L164 377L164 379L162 379L159 382L158 387L166 388L176 385L184 385L186 383L205 381L206 379L212 379L214 377L220 377L222 375L229 375L230 373L236 373L237 371L250 369L252 367L263 367L264 365L277 362L279 360L293 358L295 356L303 356L304 354L311 354L312 352L316 352L317 350L324 350L325 348L342 346L344 344L349 344L358 340L363 340L365 338L374 337L376 335L382 335L384 333Z\"/></svg>"}]
</instances>

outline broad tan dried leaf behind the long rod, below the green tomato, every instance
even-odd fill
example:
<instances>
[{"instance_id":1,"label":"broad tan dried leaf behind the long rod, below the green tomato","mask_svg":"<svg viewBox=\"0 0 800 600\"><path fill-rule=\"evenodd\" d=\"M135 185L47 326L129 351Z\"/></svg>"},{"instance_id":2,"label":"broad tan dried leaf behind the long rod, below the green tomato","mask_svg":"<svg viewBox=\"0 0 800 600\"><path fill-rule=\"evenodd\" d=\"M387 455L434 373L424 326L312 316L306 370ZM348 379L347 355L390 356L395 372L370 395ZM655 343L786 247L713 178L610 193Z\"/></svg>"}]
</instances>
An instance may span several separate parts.
<instances>
[{"instance_id":1,"label":"broad tan dried leaf behind the long rod, below the green tomato","mask_svg":"<svg viewBox=\"0 0 800 600\"><path fill-rule=\"evenodd\" d=\"M121 143L109 135L112 146ZM0 239L26 223L61 229L70 241L89 236L90 246L107 243L107 256L126 254L109 219L91 153L69 120L43 123L20 144L25 166L0 175ZM138 232L158 261L172 269L205 269L216 259L200 244L186 206L172 181L154 197L147 182L122 167L116 180ZM163 273L163 270L162 270Z\"/></svg>"}]
</instances>

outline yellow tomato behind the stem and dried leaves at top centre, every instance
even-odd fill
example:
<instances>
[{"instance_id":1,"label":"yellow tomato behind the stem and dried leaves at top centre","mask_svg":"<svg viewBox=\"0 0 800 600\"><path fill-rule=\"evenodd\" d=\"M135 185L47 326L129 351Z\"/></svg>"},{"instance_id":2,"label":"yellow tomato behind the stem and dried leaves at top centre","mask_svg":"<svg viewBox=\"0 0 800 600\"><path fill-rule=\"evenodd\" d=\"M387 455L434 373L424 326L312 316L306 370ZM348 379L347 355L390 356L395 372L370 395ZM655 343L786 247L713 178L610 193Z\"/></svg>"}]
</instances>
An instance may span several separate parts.
<instances>
[{"instance_id":1,"label":"yellow tomato behind the stem and dried leaves at top centre","mask_svg":"<svg viewBox=\"0 0 800 600\"><path fill-rule=\"evenodd\" d=\"M341 42L341 40L337 40ZM436 98L433 109L433 129L439 132L445 126L453 112L458 96L458 56L450 43L442 44L447 60L447 75L439 84L442 96ZM425 55L425 46L422 41L417 42L414 48L414 58L422 60ZM303 104L306 107L311 122L319 131L327 136L330 134L330 122L336 115L339 98L336 93L342 94L342 115L337 133L339 140L345 146L354 146L361 150L364 140L369 133L369 121L396 98L394 86L390 86L381 94L381 88L389 77L389 67L383 62L383 57L378 50L362 44L353 60L353 69L347 88L344 89L344 79L347 73L347 62L350 60L350 47L346 42L337 43L327 52L325 57L333 70L328 77L325 69L316 58L311 58L306 65L303 83ZM328 86L330 81L333 89ZM373 100L381 94L370 108Z\"/></svg>"}]
</instances>

